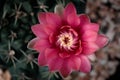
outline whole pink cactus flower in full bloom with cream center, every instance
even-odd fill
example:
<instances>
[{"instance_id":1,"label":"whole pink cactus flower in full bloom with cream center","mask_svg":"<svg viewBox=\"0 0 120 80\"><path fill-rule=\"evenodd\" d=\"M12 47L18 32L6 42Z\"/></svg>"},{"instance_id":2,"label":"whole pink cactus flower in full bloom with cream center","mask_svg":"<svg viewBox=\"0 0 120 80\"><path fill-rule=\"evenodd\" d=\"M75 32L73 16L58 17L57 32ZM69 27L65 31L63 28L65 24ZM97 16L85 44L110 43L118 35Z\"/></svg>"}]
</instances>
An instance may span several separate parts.
<instances>
[{"instance_id":1,"label":"whole pink cactus flower in full bloom with cream center","mask_svg":"<svg viewBox=\"0 0 120 80\"><path fill-rule=\"evenodd\" d=\"M39 65L63 76L73 70L89 72L89 56L108 43L108 38L98 33L99 25L85 14L77 15L72 3L61 14L41 12L38 19L40 24L32 26L36 38L28 46L40 52Z\"/></svg>"}]
</instances>

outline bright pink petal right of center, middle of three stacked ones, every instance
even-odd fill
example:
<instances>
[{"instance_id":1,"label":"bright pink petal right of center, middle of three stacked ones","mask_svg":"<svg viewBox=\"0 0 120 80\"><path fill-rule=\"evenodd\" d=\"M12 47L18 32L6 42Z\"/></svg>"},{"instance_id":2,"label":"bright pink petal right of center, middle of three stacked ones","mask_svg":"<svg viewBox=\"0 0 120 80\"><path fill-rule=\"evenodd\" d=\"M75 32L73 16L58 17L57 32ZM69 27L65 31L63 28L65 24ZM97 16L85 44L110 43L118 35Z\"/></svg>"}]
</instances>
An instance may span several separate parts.
<instances>
[{"instance_id":1,"label":"bright pink petal right of center, middle of three stacked ones","mask_svg":"<svg viewBox=\"0 0 120 80\"><path fill-rule=\"evenodd\" d=\"M96 41L97 39L97 32L86 30L85 32L81 33L81 40L82 41Z\"/></svg>"}]
</instances>

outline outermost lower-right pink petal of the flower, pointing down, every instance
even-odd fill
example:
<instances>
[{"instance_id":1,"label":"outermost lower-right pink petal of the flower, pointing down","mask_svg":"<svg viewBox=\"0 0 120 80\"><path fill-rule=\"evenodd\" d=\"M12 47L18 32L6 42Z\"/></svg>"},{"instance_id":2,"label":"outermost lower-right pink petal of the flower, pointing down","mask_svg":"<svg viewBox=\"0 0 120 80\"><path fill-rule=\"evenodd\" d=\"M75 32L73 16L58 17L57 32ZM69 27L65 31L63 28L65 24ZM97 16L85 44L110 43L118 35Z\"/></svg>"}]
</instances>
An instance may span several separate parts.
<instances>
[{"instance_id":1,"label":"outermost lower-right pink petal of the flower, pointing down","mask_svg":"<svg viewBox=\"0 0 120 80\"><path fill-rule=\"evenodd\" d=\"M81 59L80 71L85 73L90 72L91 64L88 58L84 55L81 55L80 59Z\"/></svg>"}]
</instances>

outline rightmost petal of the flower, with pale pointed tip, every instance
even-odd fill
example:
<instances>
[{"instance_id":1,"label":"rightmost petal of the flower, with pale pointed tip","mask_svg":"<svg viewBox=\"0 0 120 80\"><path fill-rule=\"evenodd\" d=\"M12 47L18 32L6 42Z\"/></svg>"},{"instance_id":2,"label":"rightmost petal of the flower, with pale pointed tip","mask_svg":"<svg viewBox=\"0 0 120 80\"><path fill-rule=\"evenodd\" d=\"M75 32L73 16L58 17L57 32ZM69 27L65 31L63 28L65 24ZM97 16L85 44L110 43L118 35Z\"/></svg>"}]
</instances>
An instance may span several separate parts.
<instances>
[{"instance_id":1,"label":"rightmost petal of the flower, with pale pointed tip","mask_svg":"<svg viewBox=\"0 0 120 80\"><path fill-rule=\"evenodd\" d=\"M106 37L105 35L102 35L102 34L98 35L97 40L96 40L96 44L100 48L104 47L108 42L109 42L108 37Z\"/></svg>"}]
</instances>

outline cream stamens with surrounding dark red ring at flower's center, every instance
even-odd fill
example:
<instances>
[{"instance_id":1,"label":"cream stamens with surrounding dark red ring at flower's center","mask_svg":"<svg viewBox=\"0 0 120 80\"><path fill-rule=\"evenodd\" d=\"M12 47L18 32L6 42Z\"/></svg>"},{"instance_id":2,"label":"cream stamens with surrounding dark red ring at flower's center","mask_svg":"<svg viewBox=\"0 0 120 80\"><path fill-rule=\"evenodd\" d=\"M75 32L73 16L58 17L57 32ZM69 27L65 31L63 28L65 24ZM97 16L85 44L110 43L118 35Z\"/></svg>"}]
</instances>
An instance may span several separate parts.
<instances>
[{"instance_id":1,"label":"cream stamens with surrounding dark red ring at flower's center","mask_svg":"<svg viewBox=\"0 0 120 80\"><path fill-rule=\"evenodd\" d=\"M61 50L66 50L66 51L73 51L78 43L78 38L75 37L74 33L71 32L71 29L67 29L67 31L62 31L58 36L57 36L57 42L56 45L59 46Z\"/></svg>"}]
</instances>

